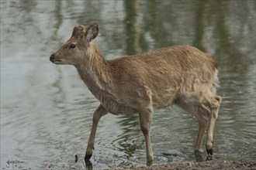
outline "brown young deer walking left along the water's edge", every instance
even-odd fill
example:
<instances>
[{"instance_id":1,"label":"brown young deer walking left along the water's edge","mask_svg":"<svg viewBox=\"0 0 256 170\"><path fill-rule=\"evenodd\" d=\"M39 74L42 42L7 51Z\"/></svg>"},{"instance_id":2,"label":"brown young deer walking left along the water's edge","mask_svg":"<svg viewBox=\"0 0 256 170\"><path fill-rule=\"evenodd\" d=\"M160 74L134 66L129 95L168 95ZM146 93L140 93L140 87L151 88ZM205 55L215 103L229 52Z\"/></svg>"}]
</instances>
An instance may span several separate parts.
<instances>
[{"instance_id":1,"label":"brown young deer walking left along the water's edge","mask_svg":"<svg viewBox=\"0 0 256 170\"><path fill-rule=\"evenodd\" d=\"M99 119L111 114L140 117L147 162L153 161L150 124L154 108L177 104L199 120L195 151L202 145L208 125L206 151L213 155L213 128L220 109L217 64L211 56L192 46L171 46L135 56L107 60L93 39L99 33L96 22L75 26L71 39L50 56L55 64L74 65L88 89L100 101L93 114L93 124L85 160L92 157Z\"/></svg>"}]
</instances>

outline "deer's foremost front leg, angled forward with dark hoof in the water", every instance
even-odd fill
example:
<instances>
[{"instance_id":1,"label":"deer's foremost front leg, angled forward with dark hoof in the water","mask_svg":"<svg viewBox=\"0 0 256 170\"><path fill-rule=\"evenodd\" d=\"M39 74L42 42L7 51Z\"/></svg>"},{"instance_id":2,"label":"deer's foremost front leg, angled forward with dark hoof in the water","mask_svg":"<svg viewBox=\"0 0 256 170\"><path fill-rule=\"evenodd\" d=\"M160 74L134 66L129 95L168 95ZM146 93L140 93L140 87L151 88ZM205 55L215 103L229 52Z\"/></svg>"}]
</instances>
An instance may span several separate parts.
<instances>
[{"instance_id":1,"label":"deer's foremost front leg, angled forward with dark hoof in the water","mask_svg":"<svg viewBox=\"0 0 256 170\"><path fill-rule=\"evenodd\" d=\"M107 113L108 111L106 110L106 108L103 107L102 104L100 104L93 114L92 131L90 134L90 138L88 140L88 145L85 153L85 160L89 160L92 157L92 150L94 149L95 134L99 123L99 119Z\"/></svg>"}]
</instances>

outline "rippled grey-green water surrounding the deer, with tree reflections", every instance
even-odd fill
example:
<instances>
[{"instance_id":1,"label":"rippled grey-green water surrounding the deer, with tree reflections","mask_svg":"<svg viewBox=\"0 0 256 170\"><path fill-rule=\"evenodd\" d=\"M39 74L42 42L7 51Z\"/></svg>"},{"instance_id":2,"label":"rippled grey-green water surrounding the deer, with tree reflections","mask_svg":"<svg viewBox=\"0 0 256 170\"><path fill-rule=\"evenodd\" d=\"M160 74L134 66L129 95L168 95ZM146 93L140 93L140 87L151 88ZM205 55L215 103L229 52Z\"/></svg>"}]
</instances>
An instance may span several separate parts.
<instances>
[{"instance_id":1,"label":"rippled grey-green water surrounding the deer, with tree reflections","mask_svg":"<svg viewBox=\"0 0 256 170\"><path fill-rule=\"evenodd\" d=\"M223 97L215 158L256 158L253 0L2 0L0 168L85 168L82 158L99 102L73 66L56 66L49 56L69 39L73 26L90 21L99 22L96 40L107 59L175 44L212 55ZM178 107L155 110L154 164L195 161L197 128L195 117ZM144 147L137 115L108 114L99 122L92 167L145 165Z\"/></svg>"}]
</instances>

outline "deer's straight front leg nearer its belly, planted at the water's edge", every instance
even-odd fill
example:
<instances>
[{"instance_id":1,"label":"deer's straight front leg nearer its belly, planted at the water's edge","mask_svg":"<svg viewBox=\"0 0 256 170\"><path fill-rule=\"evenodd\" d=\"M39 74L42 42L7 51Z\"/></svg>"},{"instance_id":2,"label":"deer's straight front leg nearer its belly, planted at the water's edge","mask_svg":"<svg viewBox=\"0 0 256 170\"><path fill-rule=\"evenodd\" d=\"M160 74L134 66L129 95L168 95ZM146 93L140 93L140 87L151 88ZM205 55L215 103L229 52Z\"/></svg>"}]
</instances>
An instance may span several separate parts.
<instances>
[{"instance_id":1,"label":"deer's straight front leg nearer its belly, planted at the water's edge","mask_svg":"<svg viewBox=\"0 0 256 170\"><path fill-rule=\"evenodd\" d=\"M152 121L152 113L149 109L140 110L139 117L140 117L140 128L144 134L144 138L146 141L147 165L151 165L154 160L153 151L152 151L151 142L150 142L150 125Z\"/></svg>"}]
</instances>

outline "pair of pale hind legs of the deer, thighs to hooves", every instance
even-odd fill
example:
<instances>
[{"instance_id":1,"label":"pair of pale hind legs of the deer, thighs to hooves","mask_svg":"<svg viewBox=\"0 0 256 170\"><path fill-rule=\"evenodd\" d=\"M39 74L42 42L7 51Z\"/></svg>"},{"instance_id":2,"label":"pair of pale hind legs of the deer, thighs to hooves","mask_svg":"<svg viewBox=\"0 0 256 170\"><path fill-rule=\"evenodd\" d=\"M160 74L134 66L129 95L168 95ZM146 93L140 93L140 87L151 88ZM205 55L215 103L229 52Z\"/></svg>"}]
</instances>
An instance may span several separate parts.
<instances>
[{"instance_id":1,"label":"pair of pale hind legs of the deer, thighs to hooves","mask_svg":"<svg viewBox=\"0 0 256 170\"><path fill-rule=\"evenodd\" d=\"M220 110L220 103L220 96L210 90L203 91L203 89L189 93L184 99L177 100L176 104L195 115L199 120L199 134L195 142L195 151L201 148L203 135L206 131L207 123L209 123L206 151L208 155L213 155L213 129Z\"/></svg>"}]
</instances>

